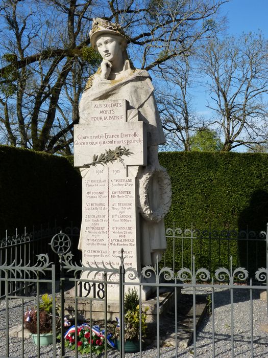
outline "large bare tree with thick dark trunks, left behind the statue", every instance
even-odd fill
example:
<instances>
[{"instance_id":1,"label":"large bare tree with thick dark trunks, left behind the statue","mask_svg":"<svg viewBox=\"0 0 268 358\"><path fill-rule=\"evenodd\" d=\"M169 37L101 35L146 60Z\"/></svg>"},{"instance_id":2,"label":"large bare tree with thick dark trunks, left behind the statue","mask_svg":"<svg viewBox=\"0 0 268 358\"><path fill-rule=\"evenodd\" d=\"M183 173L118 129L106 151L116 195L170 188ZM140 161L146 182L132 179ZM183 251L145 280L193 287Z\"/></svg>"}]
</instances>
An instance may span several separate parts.
<instances>
[{"instance_id":1,"label":"large bare tree with thick dark trunks, left behind the statue","mask_svg":"<svg viewBox=\"0 0 268 358\"><path fill-rule=\"evenodd\" d=\"M93 17L124 26L137 67L153 70L217 32L228 0L0 0L0 130L10 145L70 153L86 78L98 55Z\"/></svg>"}]
</instances>

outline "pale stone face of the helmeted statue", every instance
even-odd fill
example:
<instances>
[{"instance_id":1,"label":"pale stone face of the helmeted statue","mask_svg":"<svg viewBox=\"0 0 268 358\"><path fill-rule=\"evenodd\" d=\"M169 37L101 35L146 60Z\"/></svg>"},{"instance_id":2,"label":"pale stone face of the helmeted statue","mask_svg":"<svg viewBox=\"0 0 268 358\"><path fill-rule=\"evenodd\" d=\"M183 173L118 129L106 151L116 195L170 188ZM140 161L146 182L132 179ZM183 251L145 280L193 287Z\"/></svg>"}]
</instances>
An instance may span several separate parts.
<instances>
[{"instance_id":1,"label":"pale stone face of the helmeted statue","mask_svg":"<svg viewBox=\"0 0 268 358\"><path fill-rule=\"evenodd\" d=\"M120 37L116 35L103 35L96 40L96 48L104 60L117 62L122 59L122 46Z\"/></svg>"}]
</instances>

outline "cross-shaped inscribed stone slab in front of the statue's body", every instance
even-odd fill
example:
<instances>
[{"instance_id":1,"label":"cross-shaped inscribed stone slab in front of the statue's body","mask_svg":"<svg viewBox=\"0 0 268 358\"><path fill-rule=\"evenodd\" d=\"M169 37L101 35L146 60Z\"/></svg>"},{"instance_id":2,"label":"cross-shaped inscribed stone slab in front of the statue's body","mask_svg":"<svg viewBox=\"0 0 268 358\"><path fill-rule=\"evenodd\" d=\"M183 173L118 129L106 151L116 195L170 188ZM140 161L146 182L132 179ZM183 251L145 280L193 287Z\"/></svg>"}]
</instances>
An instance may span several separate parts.
<instances>
[{"instance_id":1,"label":"cross-shaped inscribed stone slab in front of the statue's body","mask_svg":"<svg viewBox=\"0 0 268 358\"><path fill-rule=\"evenodd\" d=\"M75 126L75 166L80 167L83 195L79 249L84 265L118 268L123 249L125 267L140 271L136 175L138 166L146 165L146 138L146 125L139 121L138 110L128 109L126 100L90 102L88 114L84 112ZM113 155L118 147L119 155ZM86 294L95 297L95 291ZM119 300L117 285L108 285L107 296Z\"/></svg>"}]
</instances>

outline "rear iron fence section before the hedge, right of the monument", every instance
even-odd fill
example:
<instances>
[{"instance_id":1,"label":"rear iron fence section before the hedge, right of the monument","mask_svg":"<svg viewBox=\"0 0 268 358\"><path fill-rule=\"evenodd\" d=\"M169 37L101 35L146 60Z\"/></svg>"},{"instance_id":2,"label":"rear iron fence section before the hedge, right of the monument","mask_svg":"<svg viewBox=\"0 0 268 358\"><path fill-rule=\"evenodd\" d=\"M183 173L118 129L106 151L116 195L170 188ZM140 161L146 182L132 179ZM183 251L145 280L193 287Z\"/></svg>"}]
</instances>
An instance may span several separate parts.
<instances>
[{"instance_id":1,"label":"rear iron fence section before the hedge, right of the monument","mask_svg":"<svg viewBox=\"0 0 268 358\"><path fill-rule=\"evenodd\" d=\"M229 264L233 258L235 266L247 267L249 277L259 267L267 267L268 226L263 231L215 230L208 227L199 230L191 226L181 229L173 225L166 229L167 250L162 260L163 266L179 270L180 267L192 267L192 257L196 258L196 267L204 267L210 272L217 267Z\"/></svg>"}]
</instances>

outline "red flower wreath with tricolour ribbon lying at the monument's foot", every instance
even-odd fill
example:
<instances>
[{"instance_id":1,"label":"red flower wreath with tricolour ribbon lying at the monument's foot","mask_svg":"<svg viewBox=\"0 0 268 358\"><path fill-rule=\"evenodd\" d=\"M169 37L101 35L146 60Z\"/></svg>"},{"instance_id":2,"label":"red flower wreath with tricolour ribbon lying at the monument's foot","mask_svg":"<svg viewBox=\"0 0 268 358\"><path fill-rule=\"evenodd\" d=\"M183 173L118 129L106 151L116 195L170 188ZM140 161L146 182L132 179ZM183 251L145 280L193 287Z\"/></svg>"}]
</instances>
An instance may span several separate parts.
<instances>
[{"instance_id":1,"label":"red flower wreath with tricolour ribbon lying at the monument's foot","mask_svg":"<svg viewBox=\"0 0 268 358\"><path fill-rule=\"evenodd\" d=\"M76 327L71 326L64 335L65 347L74 350L76 348ZM101 354L105 348L105 333L99 326L88 326L86 323L77 328L77 349L81 354L94 352ZM107 335L107 344L114 348L111 334Z\"/></svg>"}]
</instances>

